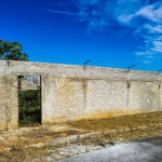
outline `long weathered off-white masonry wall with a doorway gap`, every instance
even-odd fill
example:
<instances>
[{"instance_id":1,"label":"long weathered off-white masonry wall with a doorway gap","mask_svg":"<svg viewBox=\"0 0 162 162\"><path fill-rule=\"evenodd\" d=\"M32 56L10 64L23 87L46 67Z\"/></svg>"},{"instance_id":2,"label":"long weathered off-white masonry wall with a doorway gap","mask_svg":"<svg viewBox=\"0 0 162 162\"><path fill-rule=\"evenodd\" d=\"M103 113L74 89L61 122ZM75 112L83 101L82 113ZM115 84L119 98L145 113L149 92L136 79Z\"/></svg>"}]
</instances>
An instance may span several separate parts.
<instances>
[{"instance_id":1,"label":"long weathered off-white masonry wall with a doorway gap","mask_svg":"<svg viewBox=\"0 0 162 162\"><path fill-rule=\"evenodd\" d=\"M18 126L18 76L41 76L42 123L162 110L157 72L1 60L0 130Z\"/></svg>"}]
</instances>

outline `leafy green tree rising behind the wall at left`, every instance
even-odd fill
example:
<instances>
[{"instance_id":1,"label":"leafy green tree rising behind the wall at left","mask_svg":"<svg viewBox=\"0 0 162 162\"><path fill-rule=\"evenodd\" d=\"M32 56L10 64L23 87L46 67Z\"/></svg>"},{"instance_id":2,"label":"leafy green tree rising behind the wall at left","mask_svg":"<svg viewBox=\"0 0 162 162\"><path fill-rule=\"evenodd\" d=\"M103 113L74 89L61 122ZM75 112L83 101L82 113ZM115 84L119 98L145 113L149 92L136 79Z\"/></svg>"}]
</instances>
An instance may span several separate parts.
<instances>
[{"instance_id":1,"label":"leafy green tree rising behind the wall at left","mask_svg":"<svg viewBox=\"0 0 162 162\"><path fill-rule=\"evenodd\" d=\"M23 53L23 46L18 42L0 40L0 58L13 60L28 60L28 55Z\"/></svg>"}]
</instances>

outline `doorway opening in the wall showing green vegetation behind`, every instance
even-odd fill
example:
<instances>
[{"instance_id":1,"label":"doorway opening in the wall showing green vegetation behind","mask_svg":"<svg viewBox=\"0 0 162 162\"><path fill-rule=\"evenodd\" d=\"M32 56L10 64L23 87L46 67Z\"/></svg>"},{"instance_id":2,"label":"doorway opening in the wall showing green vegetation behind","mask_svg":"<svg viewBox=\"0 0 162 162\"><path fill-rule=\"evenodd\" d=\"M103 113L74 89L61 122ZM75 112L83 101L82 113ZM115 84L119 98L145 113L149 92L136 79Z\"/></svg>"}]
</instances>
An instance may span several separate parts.
<instances>
[{"instance_id":1,"label":"doorway opening in the wall showing green vegetation behind","mask_svg":"<svg viewBox=\"0 0 162 162\"><path fill-rule=\"evenodd\" d=\"M19 126L41 124L41 76L18 76Z\"/></svg>"}]
</instances>

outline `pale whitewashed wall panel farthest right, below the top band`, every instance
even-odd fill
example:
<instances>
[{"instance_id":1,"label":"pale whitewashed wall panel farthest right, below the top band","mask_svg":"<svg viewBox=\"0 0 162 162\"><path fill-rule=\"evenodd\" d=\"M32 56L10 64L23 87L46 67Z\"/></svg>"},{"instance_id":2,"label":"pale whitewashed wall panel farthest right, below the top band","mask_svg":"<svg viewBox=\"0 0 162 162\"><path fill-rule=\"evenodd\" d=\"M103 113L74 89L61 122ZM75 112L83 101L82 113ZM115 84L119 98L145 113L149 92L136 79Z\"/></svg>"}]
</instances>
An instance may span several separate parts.
<instances>
[{"instance_id":1,"label":"pale whitewashed wall panel farthest right, below the top band","mask_svg":"<svg viewBox=\"0 0 162 162\"><path fill-rule=\"evenodd\" d=\"M161 110L159 82L132 81L127 112L152 112Z\"/></svg>"}]
</instances>

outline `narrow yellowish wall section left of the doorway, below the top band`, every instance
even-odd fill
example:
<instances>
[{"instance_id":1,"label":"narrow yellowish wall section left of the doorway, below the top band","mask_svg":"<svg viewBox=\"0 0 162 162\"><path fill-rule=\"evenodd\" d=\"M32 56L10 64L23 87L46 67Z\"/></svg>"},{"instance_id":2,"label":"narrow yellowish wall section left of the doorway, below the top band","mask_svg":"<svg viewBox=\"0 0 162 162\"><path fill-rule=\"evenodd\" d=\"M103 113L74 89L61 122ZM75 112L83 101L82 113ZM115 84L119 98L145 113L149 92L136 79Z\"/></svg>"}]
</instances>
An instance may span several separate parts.
<instances>
[{"instance_id":1,"label":"narrow yellowish wall section left of the doorway, below the top band","mask_svg":"<svg viewBox=\"0 0 162 162\"><path fill-rule=\"evenodd\" d=\"M18 126L17 77L0 77L0 130Z\"/></svg>"}]
</instances>

